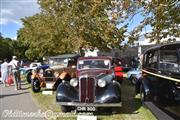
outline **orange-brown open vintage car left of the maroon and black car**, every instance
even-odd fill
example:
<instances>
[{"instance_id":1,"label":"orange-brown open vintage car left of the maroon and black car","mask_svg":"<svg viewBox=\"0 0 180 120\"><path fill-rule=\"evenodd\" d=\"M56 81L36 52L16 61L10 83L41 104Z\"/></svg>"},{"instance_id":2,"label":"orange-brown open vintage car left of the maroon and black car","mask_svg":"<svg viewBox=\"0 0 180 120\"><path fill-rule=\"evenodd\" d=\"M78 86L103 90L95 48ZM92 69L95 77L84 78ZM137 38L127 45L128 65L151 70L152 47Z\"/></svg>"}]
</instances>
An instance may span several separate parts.
<instances>
[{"instance_id":1,"label":"orange-brown open vintage car left of the maroon and black car","mask_svg":"<svg viewBox=\"0 0 180 120\"><path fill-rule=\"evenodd\" d=\"M78 57L77 54L49 57L48 69L45 71L36 69L32 72L32 90L39 92L42 87L56 90L62 80L70 80L70 75L74 75L76 72L75 65Z\"/></svg>"}]
</instances>

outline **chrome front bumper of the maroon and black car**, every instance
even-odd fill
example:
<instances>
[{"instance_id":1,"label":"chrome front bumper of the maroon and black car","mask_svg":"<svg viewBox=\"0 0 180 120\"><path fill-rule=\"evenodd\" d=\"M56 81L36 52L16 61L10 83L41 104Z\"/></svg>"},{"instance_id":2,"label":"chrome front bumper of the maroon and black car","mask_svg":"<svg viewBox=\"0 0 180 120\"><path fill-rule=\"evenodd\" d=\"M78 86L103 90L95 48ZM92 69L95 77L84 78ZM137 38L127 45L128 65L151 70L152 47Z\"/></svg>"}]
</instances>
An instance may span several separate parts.
<instances>
[{"instance_id":1,"label":"chrome front bumper of the maroon and black car","mask_svg":"<svg viewBox=\"0 0 180 120\"><path fill-rule=\"evenodd\" d=\"M122 107L120 103L78 103L78 102L58 102L60 105L65 106L86 106L86 107Z\"/></svg>"}]
</instances>

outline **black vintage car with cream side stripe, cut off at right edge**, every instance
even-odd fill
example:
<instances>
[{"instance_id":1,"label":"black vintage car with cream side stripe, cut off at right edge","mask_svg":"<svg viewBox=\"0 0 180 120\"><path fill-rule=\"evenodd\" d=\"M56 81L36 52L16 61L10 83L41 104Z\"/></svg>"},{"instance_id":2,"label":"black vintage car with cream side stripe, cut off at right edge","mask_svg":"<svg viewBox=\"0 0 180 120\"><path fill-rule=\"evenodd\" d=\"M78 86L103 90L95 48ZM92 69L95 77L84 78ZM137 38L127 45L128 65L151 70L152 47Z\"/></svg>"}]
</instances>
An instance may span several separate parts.
<instances>
[{"instance_id":1,"label":"black vintage car with cream side stripe, cut off at right edge","mask_svg":"<svg viewBox=\"0 0 180 120\"><path fill-rule=\"evenodd\" d=\"M180 102L179 43L153 47L145 52L136 93L140 93L142 102L162 105Z\"/></svg>"}]
</instances>

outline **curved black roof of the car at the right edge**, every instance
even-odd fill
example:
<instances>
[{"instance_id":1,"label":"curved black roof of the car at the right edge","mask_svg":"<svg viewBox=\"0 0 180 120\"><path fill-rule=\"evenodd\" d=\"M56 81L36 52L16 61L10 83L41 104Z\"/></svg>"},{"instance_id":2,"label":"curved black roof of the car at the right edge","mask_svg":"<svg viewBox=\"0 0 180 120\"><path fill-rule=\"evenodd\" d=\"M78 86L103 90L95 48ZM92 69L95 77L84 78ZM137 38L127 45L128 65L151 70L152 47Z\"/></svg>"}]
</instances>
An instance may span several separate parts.
<instances>
[{"instance_id":1,"label":"curved black roof of the car at the right edge","mask_svg":"<svg viewBox=\"0 0 180 120\"><path fill-rule=\"evenodd\" d=\"M172 44L165 44L165 45L157 45L157 46L155 46L155 47L152 47L152 48L149 48L149 49L147 49L146 50L146 52L148 52L148 51L152 51L152 50L163 50L163 49L169 49L169 48L171 48L171 49L176 49L176 48L180 48L180 43L172 43ZM146 53L145 52L145 53Z\"/></svg>"}]
</instances>

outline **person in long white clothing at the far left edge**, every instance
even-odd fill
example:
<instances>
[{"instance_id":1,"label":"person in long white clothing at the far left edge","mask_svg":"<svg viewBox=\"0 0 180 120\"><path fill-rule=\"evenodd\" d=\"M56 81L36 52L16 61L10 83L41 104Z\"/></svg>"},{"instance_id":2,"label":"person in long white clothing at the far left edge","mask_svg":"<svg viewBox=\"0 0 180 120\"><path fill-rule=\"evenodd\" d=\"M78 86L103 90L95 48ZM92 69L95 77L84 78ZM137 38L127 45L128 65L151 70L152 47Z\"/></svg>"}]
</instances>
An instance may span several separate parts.
<instances>
[{"instance_id":1,"label":"person in long white clothing at the far left edge","mask_svg":"<svg viewBox=\"0 0 180 120\"><path fill-rule=\"evenodd\" d=\"M1 76L4 87L6 87L6 80L8 79L8 62L7 59L4 59L4 62L1 64Z\"/></svg>"}]
</instances>

